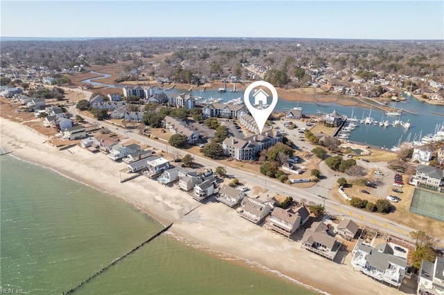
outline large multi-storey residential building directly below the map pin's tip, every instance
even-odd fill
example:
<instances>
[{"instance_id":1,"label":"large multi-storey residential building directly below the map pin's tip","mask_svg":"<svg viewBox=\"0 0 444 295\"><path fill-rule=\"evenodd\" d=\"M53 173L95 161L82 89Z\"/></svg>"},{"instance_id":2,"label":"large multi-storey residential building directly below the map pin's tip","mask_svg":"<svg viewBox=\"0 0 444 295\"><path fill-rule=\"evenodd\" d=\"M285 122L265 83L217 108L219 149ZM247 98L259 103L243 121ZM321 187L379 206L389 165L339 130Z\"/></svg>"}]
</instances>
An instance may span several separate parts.
<instances>
[{"instance_id":1,"label":"large multi-storey residential building directly below the map pin's tip","mask_svg":"<svg viewBox=\"0 0 444 295\"><path fill-rule=\"evenodd\" d=\"M276 132L273 136L272 132L264 132L255 134L244 139L228 137L222 142L223 153L226 156L236 160L253 160L257 157L258 152L272 147L276 143L282 141L282 134Z\"/></svg>"}]
</instances>

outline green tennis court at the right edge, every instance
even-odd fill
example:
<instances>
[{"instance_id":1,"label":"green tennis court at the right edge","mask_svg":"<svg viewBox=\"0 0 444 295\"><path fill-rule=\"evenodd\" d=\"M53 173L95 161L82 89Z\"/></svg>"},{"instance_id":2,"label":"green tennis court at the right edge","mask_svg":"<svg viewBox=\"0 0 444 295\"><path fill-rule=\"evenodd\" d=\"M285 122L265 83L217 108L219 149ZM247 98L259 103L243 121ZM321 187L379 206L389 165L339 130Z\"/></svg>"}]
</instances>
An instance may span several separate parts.
<instances>
[{"instance_id":1,"label":"green tennis court at the right edge","mask_svg":"<svg viewBox=\"0 0 444 295\"><path fill-rule=\"evenodd\" d=\"M415 188L411 199L410 212L444 221L444 194Z\"/></svg>"}]
</instances>

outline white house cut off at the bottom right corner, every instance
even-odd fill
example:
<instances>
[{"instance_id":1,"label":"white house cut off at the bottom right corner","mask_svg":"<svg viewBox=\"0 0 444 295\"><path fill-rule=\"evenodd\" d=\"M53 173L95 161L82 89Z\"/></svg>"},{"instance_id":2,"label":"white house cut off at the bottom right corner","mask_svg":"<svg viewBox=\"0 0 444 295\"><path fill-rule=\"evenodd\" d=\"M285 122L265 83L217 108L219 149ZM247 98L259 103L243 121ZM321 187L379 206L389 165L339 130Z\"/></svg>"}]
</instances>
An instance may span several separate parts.
<instances>
[{"instance_id":1,"label":"white house cut off at the bottom right corner","mask_svg":"<svg viewBox=\"0 0 444 295\"><path fill-rule=\"evenodd\" d=\"M422 260L422 264L418 273L417 294L444 294L444 258L436 256L435 262Z\"/></svg>"}]
</instances>

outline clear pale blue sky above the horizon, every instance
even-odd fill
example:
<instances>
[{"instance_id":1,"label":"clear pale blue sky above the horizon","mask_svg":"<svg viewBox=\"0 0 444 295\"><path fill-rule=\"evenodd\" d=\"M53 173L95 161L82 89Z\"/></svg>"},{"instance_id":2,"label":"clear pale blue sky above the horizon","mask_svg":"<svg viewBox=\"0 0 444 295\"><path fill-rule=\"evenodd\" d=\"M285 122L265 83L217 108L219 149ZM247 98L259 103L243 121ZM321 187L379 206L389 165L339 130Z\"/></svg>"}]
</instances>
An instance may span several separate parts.
<instances>
[{"instance_id":1,"label":"clear pale blue sky above the horizon","mask_svg":"<svg viewBox=\"0 0 444 295\"><path fill-rule=\"evenodd\" d=\"M444 39L444 1L3 1L1 37Z\"/></svg>"}]
</instances>

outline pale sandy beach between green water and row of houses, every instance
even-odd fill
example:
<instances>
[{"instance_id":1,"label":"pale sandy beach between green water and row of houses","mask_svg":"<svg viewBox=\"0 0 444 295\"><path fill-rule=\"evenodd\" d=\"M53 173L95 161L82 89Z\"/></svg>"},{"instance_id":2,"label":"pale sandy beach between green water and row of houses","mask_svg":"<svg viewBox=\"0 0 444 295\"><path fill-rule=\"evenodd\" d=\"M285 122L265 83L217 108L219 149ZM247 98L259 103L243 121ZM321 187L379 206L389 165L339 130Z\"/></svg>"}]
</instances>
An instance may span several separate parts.
<instances>
[{"instance_id":1,"label":"pale sandy beach between green water and row of houses","mask_svg":"<svg viewBox=\"0 0 444 295\"><path fill-rule=\"evenodd\" d=\"M273 270L329 294L404 293L353 271L350 253L343 264L330 262L301 249L299 242L244 220L223 204L200 204L176 188L143 176L121 184L118 171L125 167L124 163L115 163L104 154L92 154L81 147L58 151L44 143L46 139L31 128L1 118L1 147L13 151L15 157L53 168L120 197L164 225L173 222L171 233L198 249L230 256L259 271ZM193 208L196 210L184 217Z\"/></svg>"}]
</instances>

